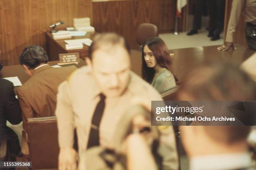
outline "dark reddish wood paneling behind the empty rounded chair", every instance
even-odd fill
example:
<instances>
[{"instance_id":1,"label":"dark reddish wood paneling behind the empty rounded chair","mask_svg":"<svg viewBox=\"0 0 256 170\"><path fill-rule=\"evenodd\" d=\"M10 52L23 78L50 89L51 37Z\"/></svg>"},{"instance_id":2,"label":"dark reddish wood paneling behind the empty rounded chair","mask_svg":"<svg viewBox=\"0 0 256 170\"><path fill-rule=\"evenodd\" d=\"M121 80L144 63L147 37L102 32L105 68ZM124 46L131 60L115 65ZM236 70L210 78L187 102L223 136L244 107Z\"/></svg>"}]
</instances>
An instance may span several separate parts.
<instances>
[{"instance_id":1,"label":"dark reddish wood paneling behind the empty rounded chair","mask_svg":"<svg viewBox=\"0 0 256 170\"><path fill-rule=\"evenodd\" d=\"M124 36L132 49L138 49L136 30L141 23L153 23L159 32L174 30L177 0L122 0L94 2L93 26L98 32ZM173 9L172 9L173 8Z\"/></svg>"}]
</instances>

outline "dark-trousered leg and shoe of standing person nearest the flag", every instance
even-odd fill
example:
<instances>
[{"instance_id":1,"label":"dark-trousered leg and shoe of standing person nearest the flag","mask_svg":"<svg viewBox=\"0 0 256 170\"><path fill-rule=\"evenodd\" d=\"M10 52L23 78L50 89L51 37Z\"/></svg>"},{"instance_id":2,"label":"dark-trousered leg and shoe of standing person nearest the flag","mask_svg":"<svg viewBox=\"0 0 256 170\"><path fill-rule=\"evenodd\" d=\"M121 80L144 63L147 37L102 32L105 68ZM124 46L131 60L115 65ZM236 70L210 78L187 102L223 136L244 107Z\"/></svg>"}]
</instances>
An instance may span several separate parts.
<instances>
[{"instance_id":1,"label":"dark-trousered leg and shoe of standing person nearest the flag","mask_svg":"<svg viewBox=\"0 0 256 170\"><path fill-rule=\"evenodd\" d=\"M202 13L204 12L204 8L207 8L206 0L195 0L195 13L193 19L193 28L187 33L187 36L192 36L197 34L201 29L202 25Z\"/></svg>"}]
</instances>

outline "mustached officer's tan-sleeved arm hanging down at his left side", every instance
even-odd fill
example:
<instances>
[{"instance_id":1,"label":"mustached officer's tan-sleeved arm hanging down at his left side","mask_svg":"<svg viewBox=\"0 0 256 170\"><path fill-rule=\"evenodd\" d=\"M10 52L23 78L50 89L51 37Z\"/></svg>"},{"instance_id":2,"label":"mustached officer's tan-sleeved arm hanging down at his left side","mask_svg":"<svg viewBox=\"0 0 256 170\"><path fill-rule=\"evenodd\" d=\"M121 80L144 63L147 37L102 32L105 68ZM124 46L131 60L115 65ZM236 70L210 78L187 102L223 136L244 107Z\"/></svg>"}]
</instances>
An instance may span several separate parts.
<instances>
[{"instance_id":1,"label":"mustached officer's tan-sleeved arm hanging down at his left side","mask_svg":"<svg viewBox=\"0 0 256 170\"><path fill-rule=\"evenodd\" d=\"M75 170L77 152L73 148L74 114L67 81L61 83L58 88L56 116L60 147L59 170Z\"/></svg>"}]
</instances>

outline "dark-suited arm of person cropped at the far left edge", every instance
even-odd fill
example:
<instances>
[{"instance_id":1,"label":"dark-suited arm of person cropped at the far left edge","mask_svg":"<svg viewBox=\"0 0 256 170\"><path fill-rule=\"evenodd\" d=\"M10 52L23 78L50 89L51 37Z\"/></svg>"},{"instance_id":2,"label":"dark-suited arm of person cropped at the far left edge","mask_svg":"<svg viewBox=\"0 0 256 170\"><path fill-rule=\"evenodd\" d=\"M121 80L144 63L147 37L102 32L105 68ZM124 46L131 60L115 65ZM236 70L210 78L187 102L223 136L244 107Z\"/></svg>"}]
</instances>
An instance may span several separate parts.
<instances>
[{"instance_id":1,"label":"dark-suited arm of person cropped at the far left edge","mask_svg":"<svg viewBox=\"0 0 256 170\"><path fill-rule=\"evenodd\" d=\"M22 121L21 109L18 100L15 98L13 84L8 89L8 100L6 102L7 120L11 124L19 124Z\"/></svg>"}]
</instances>

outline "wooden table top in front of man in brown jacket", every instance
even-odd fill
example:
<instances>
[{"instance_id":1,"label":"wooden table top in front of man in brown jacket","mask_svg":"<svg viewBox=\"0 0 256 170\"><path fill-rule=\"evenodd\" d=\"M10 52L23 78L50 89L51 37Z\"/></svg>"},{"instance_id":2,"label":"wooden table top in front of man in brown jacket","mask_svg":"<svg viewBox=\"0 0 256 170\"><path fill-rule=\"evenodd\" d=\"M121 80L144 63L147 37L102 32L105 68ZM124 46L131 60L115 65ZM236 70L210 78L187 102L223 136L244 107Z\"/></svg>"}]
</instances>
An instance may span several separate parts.
<instances>
[{"instance_id":1,"label":"wooden table top in front of man in brown jacket","mask_svg":"<svg viewBox=\"0 0 256 170\"><path fill-rule=\"evenodd\" d=\"M59 63L59 61L48 62L50 66L54 66L57 63ZM85 61L80 59L78 67L82 67L82 66L85 66ZM29 76L26 74L25 69L20 65L4 66L3 69L0 71L1 78L15 77L15 76L18 76L22 84L24 84L29 79Z\"/></svg>"}]
</instances>

